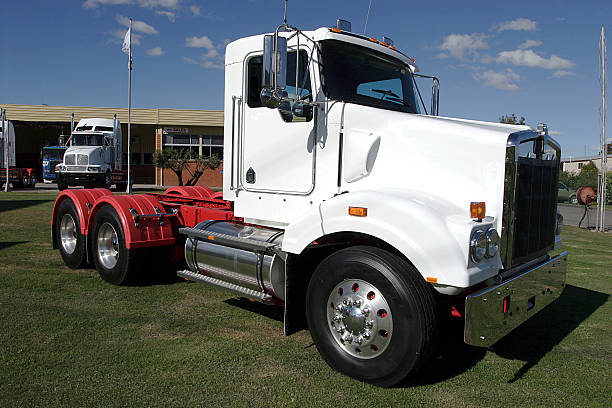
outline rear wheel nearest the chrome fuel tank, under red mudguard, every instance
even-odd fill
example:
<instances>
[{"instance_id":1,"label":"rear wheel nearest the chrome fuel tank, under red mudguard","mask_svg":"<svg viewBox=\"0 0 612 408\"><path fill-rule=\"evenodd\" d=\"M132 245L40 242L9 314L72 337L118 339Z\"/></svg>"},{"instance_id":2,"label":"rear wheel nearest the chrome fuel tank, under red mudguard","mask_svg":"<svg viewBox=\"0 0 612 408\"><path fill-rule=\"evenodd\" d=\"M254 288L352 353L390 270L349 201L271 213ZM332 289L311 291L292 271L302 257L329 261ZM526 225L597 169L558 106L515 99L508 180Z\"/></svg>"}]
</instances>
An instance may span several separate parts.
<instances>
[{"instance_id":1,"label":"rear wheel nearest the chrome fuel tank, under red mudguard","mask_svg":"<svg viewBox=\"0 0 612 408\"><path fill-rule=\"evenodd\" d=\"M108 237L112 237L113 233L114 238L109 240ZM116 242L112 242L115 238ZM102 279L113 285L135 282L141 252L125 246L121 220L117 211L110 205L102 207L95 216L91 248L94 264Z\"/></svg>"}]
</instances>

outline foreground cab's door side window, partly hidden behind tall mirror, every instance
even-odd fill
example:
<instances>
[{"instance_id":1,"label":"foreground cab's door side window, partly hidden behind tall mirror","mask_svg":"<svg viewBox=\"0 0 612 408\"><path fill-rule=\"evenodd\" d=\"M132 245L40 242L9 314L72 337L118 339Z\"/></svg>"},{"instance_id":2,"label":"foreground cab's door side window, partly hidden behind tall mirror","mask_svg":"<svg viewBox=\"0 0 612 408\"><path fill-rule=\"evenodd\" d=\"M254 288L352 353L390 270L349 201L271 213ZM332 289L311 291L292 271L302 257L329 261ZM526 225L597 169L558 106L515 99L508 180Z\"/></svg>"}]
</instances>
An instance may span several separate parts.
<instances>
[{"instance_id":1,"label":"foreground cab's door side window, partly hidden behind tall mirror","mask_svg":"<svg viewBox=\"0 0 612 408\"><path fill-rule=\"evenodd\" d=\"M263 58L252 57L247 63L247 105L249 108L263 107L259 95L261 94ZM296 51L287 53L287 87L286 96L296 98L298 95L307 101L312 101L312 88L310 85L310 74L308 72L308 53L300 51L298 84L295 84L296 74ZM296 117L291 113L293 102L283 102L279 108L281 117L285 122L304 122L311 117Z\"/></svg>"}]
</instances>

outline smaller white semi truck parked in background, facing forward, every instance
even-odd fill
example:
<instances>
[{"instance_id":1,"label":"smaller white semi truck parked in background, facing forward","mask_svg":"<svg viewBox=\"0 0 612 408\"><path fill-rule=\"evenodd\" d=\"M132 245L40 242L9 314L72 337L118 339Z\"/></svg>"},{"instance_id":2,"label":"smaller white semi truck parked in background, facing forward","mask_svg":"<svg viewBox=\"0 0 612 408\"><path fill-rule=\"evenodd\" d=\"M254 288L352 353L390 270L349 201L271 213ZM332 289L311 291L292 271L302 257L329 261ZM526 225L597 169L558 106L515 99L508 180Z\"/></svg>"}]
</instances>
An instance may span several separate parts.
<instances>
[{"instance_id":1,"label":"smaller white semi truck parked in background, facing forward","mask_svg":"<svg viewBox=\"0 0 612 408\"><path fill-rule=\"evenodd\" d=\"M121 123L116 119L81 119L73 129L63 162L55 167L58 189L69 186L127 187L123 170Z\"/></svg>"}]
</instances>

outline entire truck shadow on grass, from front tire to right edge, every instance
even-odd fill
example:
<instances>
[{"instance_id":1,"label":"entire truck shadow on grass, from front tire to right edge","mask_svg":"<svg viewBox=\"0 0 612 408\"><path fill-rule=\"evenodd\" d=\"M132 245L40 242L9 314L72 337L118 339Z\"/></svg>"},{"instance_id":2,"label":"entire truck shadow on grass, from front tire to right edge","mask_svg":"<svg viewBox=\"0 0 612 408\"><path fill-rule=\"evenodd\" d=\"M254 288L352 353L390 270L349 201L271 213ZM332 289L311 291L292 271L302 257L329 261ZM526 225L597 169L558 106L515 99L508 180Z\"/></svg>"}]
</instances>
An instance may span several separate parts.
<instances>
[{"instance_id":1,"label":"entire truck shadow on grass, from front tire to right edge","mask_svg":"<svg viewBox=\"0 0 612 408\"><path fill-rule=\"evenodd\" d=\"M508 382L520 380L609 297L605 293L567 285L559 299L494 344L490 350L498 356L525 361ZM446 324L440 338L434 358L399 387L435 384L462 374L482 360L488 350L463 342L463 321Z\"/></svg>"}]
</instances>

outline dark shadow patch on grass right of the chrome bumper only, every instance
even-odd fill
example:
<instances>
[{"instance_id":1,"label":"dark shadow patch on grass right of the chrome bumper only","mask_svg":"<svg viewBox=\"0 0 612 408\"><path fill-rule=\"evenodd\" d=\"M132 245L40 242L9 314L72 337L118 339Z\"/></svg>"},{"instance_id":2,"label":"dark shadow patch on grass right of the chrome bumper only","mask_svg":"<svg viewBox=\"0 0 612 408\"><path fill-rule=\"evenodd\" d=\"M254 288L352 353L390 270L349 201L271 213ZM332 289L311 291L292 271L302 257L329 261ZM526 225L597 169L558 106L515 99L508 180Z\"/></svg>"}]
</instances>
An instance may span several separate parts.
<instances>
[{"instance_id":1,"label":"dark shadow patch on grass right of the chrome bumper only","mask_svg":"<svg viewBox=\"0 0 612 408\"><path fill-rule=\"evenodd\" d=\"M494 344L492 350L497 355L525 361L508 382L520 380L609 297L606 293L567 285L559 299Z\"/></svg>"}]
</instances>

